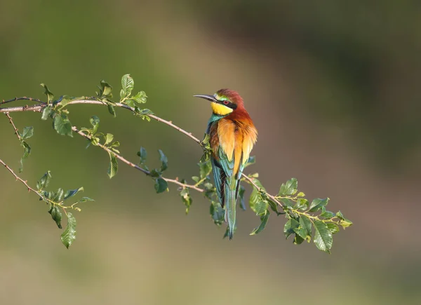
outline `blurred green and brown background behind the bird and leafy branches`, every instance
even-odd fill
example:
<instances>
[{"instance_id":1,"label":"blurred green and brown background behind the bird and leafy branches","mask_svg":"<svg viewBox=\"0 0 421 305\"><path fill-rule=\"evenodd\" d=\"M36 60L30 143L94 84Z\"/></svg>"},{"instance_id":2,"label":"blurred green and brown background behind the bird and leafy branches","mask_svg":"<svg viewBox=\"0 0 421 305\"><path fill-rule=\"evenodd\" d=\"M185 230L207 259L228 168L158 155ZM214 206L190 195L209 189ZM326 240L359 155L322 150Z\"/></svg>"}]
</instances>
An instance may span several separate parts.
<instances>
[{"instance_id":1,"label":"blurred green and brown background behind the bird and leafy branches","mask_svg":"<svg viewBox=\"0 0 421 305\"><path fill-rule=\"evenodd\" d=\"M61 137L39 114L22 177L51 170L51 189L85 187L70 250L47 207L0 169L1 304L420 304L421 5L417 1L1 1L0 99L119 92L130 73L147 107L197 137L210 107L194 94L238 90L259 130L253 150L276 193L297 177L310 198L329 196L354 226L333 254L283 237L284 219L239 213L222 240L208 202L189 216L172 191L108 156ZM118 95L118 94L116 94ZM22 103L21 103L22 104ZM169 158L168 177L196 175L201 149L157 122L119 109L72 106L70 120L113 133L121 153ZM0 116L0 158L18 169L22 147ZM249 194L250 189L247 189Z\"/></svg>"}]
</instances>

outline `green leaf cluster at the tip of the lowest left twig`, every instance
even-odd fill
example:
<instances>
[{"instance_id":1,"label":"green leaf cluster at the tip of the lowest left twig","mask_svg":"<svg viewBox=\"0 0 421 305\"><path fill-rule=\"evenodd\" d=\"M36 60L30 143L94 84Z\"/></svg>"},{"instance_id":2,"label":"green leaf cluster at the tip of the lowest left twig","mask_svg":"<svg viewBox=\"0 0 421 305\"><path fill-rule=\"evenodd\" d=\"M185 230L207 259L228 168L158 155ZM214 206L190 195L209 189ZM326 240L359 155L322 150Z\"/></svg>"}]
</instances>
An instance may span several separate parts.
<instances>
[{"instance_id":1,"label":"green leaf cluster at the tip of the lowest left twig","mask_svg":"<svg viewBox=\"0 0 421 305\"><path fill-rule=\"evenodd\" d=\"M67 209L81 211L79 207L76 207L79 203L84 203L87 201L93 201L89 197L82 197L78 201L74 201L71 205L66 205L69 198L75 196L79 191L83 191L83 187L78 187L77 189L69 189L64 191L62 188L59 188L57 191L46 191L48 184L51 181L51 172L48 170L38 182L36 182L36 192L39 194L40 201L45 201L48 206L51 218L53 218L55 224L57 224L59 229L62 229L62 212L65 212L67 216L67 226L65 231L61 234L61 240L63 245L66 248L69 248L70 245L76 239L76 219L71 212L67 212Z\"/></svg>"}]
</instances>

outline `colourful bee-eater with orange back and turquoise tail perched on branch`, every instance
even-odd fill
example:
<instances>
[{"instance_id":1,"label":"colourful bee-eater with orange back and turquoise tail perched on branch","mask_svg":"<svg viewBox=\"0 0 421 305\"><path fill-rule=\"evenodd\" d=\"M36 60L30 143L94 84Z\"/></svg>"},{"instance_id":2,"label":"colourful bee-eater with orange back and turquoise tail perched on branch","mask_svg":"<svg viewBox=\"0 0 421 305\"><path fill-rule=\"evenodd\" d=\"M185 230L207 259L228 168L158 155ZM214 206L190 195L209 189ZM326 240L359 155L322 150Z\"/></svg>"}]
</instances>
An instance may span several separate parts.
<instances>
[{"instance_id":1,"label":"colourful bee-eater with orange back and turquoise tail perched on branch","mask_svg":"<svg viewBox=\"0 0 421 305\"><path fill-rule=\"evenodd\" d=\"M214 95L194 96L209 100L212 107L206 129L212 148L210 161L216 192L222 208L225 208L229 239L232 239L241 173L258 138L258 130L236 91L221 89Z\"/></svg>"}]
</instances>

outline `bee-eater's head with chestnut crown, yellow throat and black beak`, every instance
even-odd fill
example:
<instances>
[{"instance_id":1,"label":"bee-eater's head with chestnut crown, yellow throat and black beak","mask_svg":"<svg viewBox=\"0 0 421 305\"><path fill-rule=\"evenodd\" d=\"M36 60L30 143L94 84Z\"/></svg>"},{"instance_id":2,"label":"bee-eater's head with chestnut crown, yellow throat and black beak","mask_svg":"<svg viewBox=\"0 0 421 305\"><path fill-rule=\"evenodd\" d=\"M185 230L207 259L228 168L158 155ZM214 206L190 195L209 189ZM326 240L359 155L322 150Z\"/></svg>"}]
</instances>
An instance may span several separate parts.
<instances>
[{"instance_id":1,"label":"bee-eater's head with chestnut crown, yellow throat and black beak","mask_svg":"<svg viewBox=\"0 0 421 305\"><path fill-rule=\"evenodd\" d=\"M194 95L210 101L210 106L214 114L218 116L227 116L236 109L243 108L243 99L234 90L221 89L214 95Z\"/></svg>"}]
</instances>

